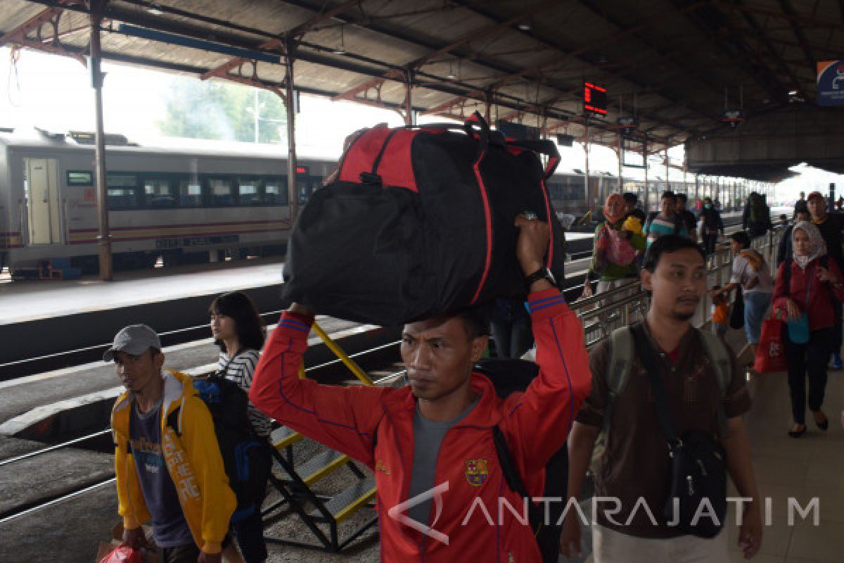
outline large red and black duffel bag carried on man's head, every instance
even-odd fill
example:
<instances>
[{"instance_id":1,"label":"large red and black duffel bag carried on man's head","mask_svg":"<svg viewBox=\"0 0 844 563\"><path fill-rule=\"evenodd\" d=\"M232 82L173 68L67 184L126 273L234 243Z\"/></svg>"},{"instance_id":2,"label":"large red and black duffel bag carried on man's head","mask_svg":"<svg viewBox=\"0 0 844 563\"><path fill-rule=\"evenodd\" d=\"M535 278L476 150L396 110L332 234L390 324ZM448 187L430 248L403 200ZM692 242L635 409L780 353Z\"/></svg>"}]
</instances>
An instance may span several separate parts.
<instances>
[{"instance_id":1,"label":"large red and black duffel bag carried on man's head","mask_svg":"<svg viewBox=\"0 0 844 563\"><path fill-rule=\"evenodd\" d=\"M464 127L365 129L296 219L284 300L388 326L524 297L523 211L550 222L561 283L565 241L545 187L559 160L551 141L505 139L477 113Z\"/></svg>"}]
</instances>

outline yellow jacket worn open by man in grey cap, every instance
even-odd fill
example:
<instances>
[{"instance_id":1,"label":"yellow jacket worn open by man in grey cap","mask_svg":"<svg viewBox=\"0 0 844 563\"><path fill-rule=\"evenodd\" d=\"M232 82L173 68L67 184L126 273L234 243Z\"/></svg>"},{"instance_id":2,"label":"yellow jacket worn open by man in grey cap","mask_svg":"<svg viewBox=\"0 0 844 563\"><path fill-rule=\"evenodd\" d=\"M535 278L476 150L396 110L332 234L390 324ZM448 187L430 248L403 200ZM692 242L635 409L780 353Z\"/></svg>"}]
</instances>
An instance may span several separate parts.
<instances>
[{"instance_id":1,"label":"yellow jacket worn open by man in grey cap","mask_svg":"<svg viewBox=\"0 0 844 563\"><path fill-rule=\"evenodd\" d=\"M176 485L181 510L194 541L205 553L219 553L237 501L225 474L214 422L193 388L190 376L165 371L163 377L161 451L167 470ZM116 444L117 510L127 529L138 528L150 518L128 447L132 401L132 394L124 392L111 411L111 431ZM177 413L178 429L167 425L173 413Z\"/></svg>"}]
</instances>

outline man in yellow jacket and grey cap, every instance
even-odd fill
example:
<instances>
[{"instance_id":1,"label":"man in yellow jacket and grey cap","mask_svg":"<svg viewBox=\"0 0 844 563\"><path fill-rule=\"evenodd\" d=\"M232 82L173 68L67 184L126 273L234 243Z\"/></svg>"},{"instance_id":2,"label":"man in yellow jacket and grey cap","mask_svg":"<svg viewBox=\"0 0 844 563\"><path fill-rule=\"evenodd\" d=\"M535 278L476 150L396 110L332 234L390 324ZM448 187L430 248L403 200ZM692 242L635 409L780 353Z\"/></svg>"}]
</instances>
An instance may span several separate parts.
<instances>
[{"instance_id":1,"label":"man in yellow jacket and grey cap","mask_svg":"<svg viewBox=\"0 0 844 563\"><path fill-rule=\"evenodd\" d=\"M163 563L219 563L237 502L191 378L162 371L160 339L146 325L123 328L103 360L127 388L111 413L123 541L143 546L141 524L151 521Z\"/></svg>"}]
</instances>

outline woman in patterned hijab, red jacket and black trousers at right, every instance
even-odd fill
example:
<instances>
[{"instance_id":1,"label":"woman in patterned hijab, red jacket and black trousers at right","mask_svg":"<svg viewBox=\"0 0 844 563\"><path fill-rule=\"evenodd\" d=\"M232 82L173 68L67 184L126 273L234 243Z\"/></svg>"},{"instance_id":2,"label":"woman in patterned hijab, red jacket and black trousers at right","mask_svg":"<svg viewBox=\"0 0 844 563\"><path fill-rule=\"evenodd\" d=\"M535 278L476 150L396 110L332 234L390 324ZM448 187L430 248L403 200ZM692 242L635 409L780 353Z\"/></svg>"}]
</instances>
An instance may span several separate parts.
<instances>
[{"instance_id":1,"label":"woman in patterned hijab, red jacket and black trousers at right","mask_svg":"<svg viewBox=\"0 0 844 563\"><path fill-rule=\"evenodd\" d=\"M844 300L841 270L826 257L820 230L809 221L792 230L793 257L780 264L774 287L774 307L783 324L782 340L788 362L788 391L794 425L788 436L806 431L806 376L809 376L809 409L820 430L829 420L820 409L826 389L826 361L833 342L835 314L832 300Z\"/></svg>"}]
</instances>

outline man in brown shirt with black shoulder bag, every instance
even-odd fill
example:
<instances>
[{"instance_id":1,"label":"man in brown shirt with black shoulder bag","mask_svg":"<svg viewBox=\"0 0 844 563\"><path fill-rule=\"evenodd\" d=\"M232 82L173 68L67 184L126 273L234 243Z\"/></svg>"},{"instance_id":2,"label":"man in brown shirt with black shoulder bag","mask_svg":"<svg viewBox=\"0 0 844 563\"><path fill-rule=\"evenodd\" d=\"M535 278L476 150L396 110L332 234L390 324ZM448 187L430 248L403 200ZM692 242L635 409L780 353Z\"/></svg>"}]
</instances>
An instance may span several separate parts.
<instances>
[{"instance_id":1,"label":"man in brown shirt with black shoulder bag","mask_svg":"<svg viewBox=\"0 0 844 563\"><path fill-rule=\"evenodd\" d=\"M652 291L651 309L643 325L657 355L678 435L695 429L720 436L719 406L726 414L727 433L720 440L727 451L728 472L739 495L753 499L744 504L739 534L744 556L750 558L760 548L762 529L749 441L741 418L750 408L750 398L744 385L744 371L738 367L732 350L733 372L722 395L715 365L690 323L706 293L703 252L687 238L660 237L647 253L641 277L643 287ZM590 354L592 393L569 436L569 495L572 497L582 490L592 448L604 424L609 397L610 344L608 338ZM596 563L728 560L726 530L715 539L701 539L684 535L663 520L663 506L671 483L671 458L657 420L651 384L637 350L626 385L614 400L609 439L598 459L595 480L596 498L610 497L620 503L617 512L614 512L615 501L595 505ZM642 501L650 512L641 506ZM569 512L565 518L560 550L567 556L579 554L580 522L576 512Z\"/></svg>"}]
</instances>

